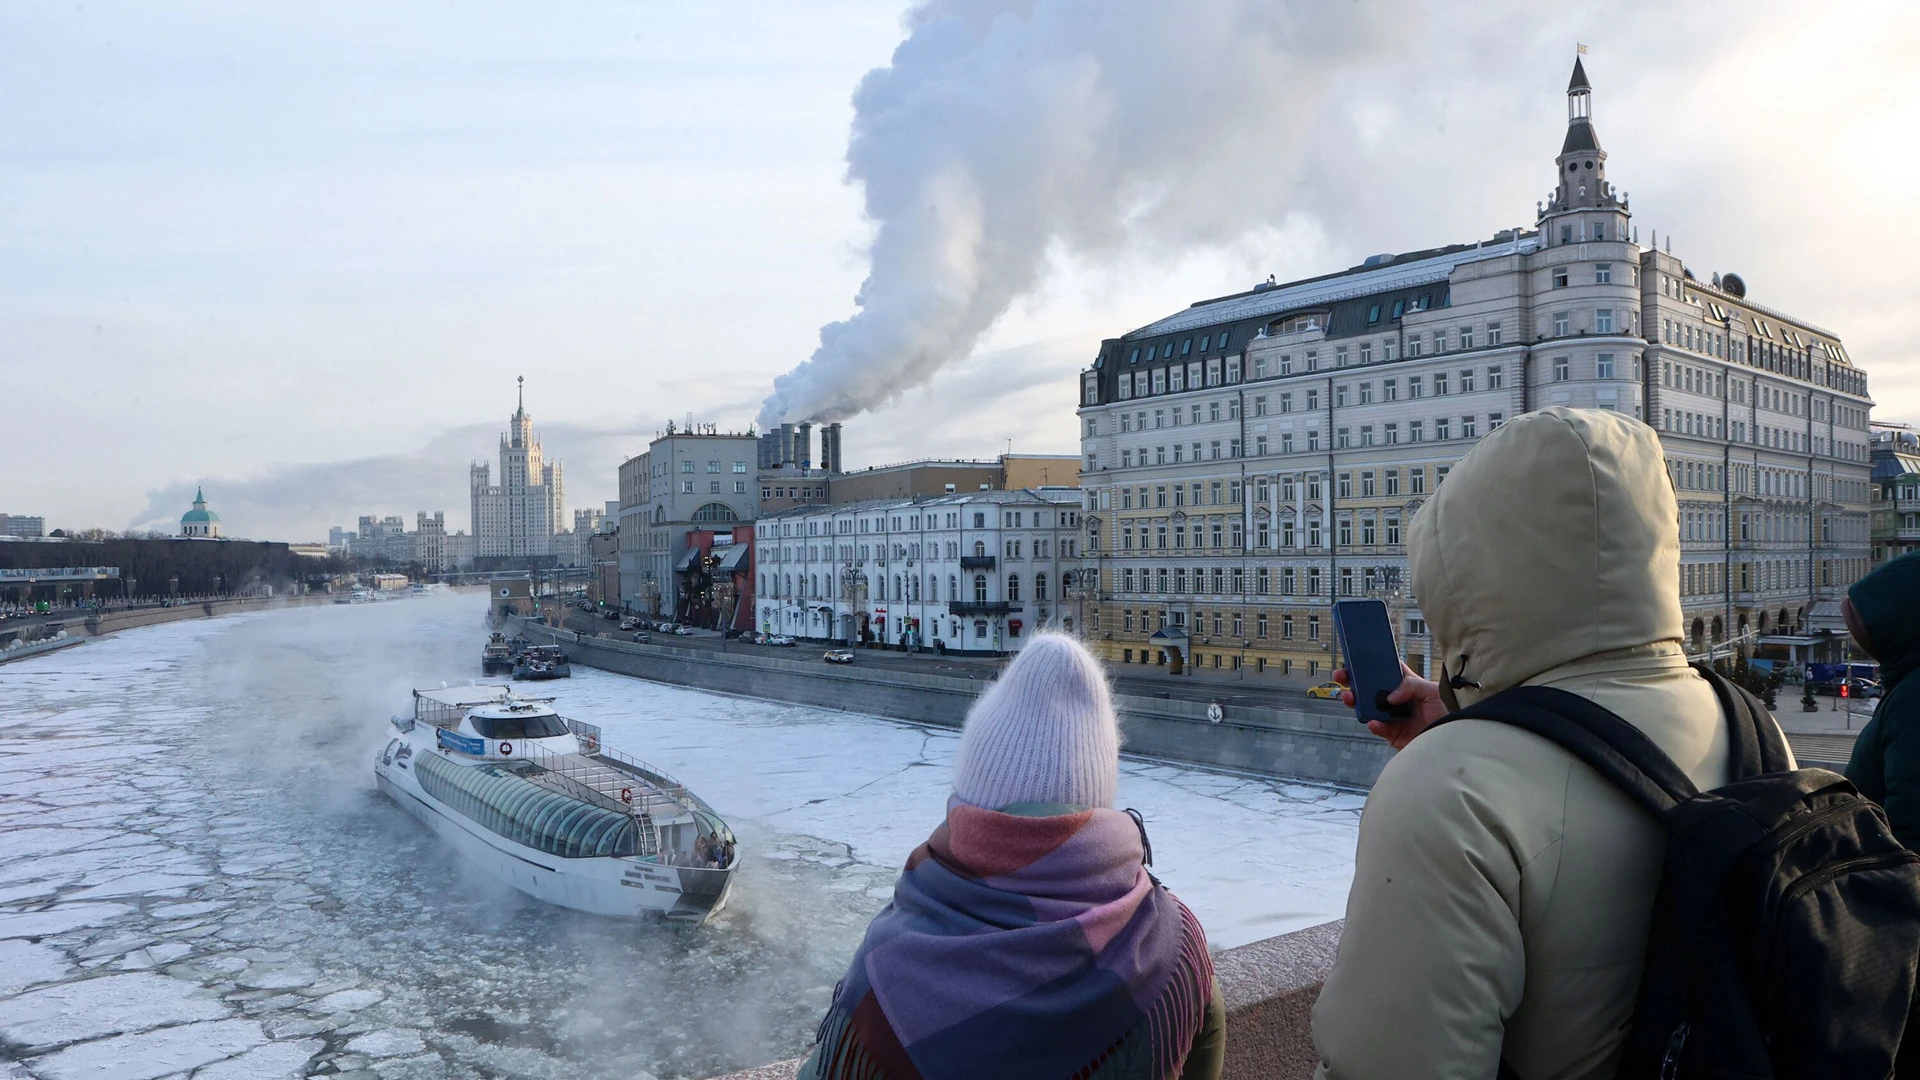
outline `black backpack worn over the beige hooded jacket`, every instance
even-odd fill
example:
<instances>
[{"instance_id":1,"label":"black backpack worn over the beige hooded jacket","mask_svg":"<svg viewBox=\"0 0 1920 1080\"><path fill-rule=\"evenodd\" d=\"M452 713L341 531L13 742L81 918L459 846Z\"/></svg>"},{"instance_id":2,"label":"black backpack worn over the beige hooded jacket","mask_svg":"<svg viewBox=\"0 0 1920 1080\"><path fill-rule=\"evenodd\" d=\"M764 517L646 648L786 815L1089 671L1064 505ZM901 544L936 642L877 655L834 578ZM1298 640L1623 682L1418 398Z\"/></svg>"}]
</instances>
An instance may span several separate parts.
<instances>
[{"instance_id":1,"label":"black backpack worn over the beige hooded jacket","mask_svg":"<svg viewBox=\"0 0 1920 1080\"><path fill-rule=\"evenodd\" d=\"M1440 723L1549 738L1667 826L1620 1080L1920 1076L1920 855L1826 769L1788 771L1751 694L1701 667L1728 719L1732 782L1699 792L1638 728L1551 686ZM1914 1045L1901 1040L1908 1024ZM1501 1063L1501 1076L1515 1076Z\"/></svg>"}]
</instances>

